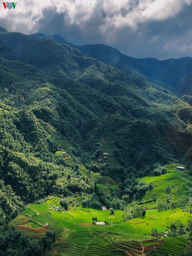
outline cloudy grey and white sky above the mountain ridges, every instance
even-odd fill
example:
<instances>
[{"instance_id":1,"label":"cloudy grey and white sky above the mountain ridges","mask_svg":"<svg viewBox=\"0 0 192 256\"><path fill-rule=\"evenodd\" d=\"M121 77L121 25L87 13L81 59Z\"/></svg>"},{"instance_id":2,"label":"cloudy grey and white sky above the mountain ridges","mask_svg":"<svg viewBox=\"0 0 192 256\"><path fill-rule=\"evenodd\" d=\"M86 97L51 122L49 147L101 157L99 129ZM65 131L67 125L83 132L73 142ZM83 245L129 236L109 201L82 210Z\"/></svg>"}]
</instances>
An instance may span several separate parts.
<instances>
[{"instance_id":1,"label":"cloudy grey and white sky above the mountain ridges","mask_svg":"<svg viewBox=\"0 0 192 256\"><path fill-rule=\"evenodd\" d=\"M0 2L0 26L9 32L60 34L74 45L110 45L136 58L192 57L192 0L16 3L5 9Z\"/></svg>"}]
</instances>

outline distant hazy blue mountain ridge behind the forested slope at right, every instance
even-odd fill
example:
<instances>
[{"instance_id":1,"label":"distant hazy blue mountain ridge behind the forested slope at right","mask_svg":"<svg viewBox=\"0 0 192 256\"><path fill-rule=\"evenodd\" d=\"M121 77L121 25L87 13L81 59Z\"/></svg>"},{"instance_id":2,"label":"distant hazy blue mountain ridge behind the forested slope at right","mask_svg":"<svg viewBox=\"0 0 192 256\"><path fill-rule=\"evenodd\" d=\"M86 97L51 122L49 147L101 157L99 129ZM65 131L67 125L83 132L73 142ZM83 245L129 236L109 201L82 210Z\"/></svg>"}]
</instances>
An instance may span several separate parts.
<instances>
[{"instance_id":1,"label":"distant hazy blue mountain ridge behind the forested slope at right","mask_svg":"<svg viewBox=\"0 0 192 256\"><path fill-rule=\"evenodd\" d=\"M161 83L176 95L192 94L192 58L158 60L155 58L136 59L121 54L117 49L105 45L75 46L89 57L116 67L125 73L130 67L142 75Z\"/></svg>"}]
</instances>

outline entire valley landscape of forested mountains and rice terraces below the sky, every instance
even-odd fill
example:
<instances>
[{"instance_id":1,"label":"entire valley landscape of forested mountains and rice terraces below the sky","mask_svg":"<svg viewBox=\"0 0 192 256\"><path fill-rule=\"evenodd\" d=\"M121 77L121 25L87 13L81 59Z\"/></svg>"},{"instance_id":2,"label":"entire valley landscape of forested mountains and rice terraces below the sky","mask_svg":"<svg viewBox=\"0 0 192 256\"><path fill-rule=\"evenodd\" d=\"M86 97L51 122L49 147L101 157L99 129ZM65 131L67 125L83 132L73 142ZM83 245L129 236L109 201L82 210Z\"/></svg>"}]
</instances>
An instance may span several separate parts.
<instances>
[{"instance_id":1,"label":"entire valley landscape of forested mountains and rice terraces below the sky","mask_svg":"<svg viewBox=\"0 0 192 256\"><path fill-rule=\"evenodd\" d=\"M0 254L190 255L191 58L0 43Z\"/></svg>"}]
</instances>

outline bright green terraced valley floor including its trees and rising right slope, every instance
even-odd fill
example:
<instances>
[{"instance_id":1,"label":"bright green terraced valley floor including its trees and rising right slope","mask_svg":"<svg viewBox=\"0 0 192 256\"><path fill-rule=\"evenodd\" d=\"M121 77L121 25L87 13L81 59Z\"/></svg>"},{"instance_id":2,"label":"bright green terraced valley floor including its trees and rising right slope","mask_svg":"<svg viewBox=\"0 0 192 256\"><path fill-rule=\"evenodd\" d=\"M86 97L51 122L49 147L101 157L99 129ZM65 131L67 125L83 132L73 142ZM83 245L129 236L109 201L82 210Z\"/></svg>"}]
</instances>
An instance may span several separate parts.
<instances>
[{"instance_id":1,"label":"bright green terraced valley floor including its trees and rising right slope","mask_svg":"<svg viewBox=\"0 0 192 256\"><path fill-rule=\"evenodd\" d=\"M134 201L113 214L109 208L80 206L82 197L76 198L75 204L70 203L68 209L63 207L62 199L50 197L45 203L29 204L11 223L38 239L48 230L55 231L56 240L46 255L51 252L126 255L128 252L129 255L176 256L182 251L190 255L187 246L191 236L192 179L188 170L180 172L177 165L167 165L166 169L167 173L161 176L140 178L140 182L155 182L155 187L144 193L142 201ZM94 225L95 219L105 225Z\"/></svg>"}]
</instances>

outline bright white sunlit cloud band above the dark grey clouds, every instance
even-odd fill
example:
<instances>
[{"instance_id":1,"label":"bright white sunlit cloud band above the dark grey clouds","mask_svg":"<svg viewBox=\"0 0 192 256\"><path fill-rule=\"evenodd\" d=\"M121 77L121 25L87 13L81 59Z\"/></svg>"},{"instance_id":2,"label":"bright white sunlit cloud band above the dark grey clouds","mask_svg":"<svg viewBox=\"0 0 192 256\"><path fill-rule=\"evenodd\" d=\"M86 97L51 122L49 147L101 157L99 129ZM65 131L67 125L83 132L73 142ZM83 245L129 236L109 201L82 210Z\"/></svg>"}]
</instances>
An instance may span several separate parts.
<instances>
[{"instance_id":1,"label":"bright white sunlit cloud band above the dark grey clouds","mask_svg":"<svg viewBox=\"0 0 192 256\"><path fill-rule=\"evenodd\" d=\"M15 10L5 10L2 5L0 15L8 20L11 30L18 27L27 33L42 17L45 8L54 6L58 13L68 13L66 23L79 25L82 29L87 26L87 20L95 9L98 9L98 18L99 12L106 15L101 26L101 32L105 33L109 27L130 27L136 30L139 23L173 17L184 5L191 3L192 0L19 0Z\"/></svg>"}]
</instances>

